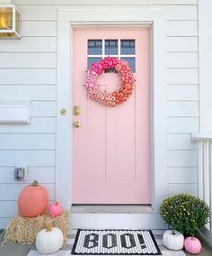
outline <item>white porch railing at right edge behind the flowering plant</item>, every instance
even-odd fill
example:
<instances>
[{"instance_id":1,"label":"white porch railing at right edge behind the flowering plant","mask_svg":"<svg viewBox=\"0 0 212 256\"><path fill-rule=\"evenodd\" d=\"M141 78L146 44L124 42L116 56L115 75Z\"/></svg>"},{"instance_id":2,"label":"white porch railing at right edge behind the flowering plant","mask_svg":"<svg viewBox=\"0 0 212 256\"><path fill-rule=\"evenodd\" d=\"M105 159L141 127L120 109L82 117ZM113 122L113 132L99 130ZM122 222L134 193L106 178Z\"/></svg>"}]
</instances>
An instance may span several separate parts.
<instances>
[{"instance_id":1,"label":"white porch railing at right edge behind the flowering plant","mask_svg":"<svg viewBox=\"0 0 212 256\"><path fill-rule=\"evenodd\" d=\"M206 225L212 232L212 137L191 135L198 144L198 196L210 207L210 222Z\"/></svg>"}]
</instances>

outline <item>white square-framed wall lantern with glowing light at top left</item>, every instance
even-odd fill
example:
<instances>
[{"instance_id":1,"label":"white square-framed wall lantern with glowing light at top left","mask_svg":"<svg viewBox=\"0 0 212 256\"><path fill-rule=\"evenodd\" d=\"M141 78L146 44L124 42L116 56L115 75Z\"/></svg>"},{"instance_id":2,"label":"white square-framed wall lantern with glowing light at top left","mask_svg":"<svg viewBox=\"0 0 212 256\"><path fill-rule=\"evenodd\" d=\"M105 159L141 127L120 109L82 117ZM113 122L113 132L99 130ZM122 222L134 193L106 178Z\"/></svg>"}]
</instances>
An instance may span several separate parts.
<instances>
[{"instance_id":1,"label":"white square-framed wall lantern with glowing light at top left","mask_svg":"<svg viewBox=\"0 0 212 256\"><path fill-rule=\"evenodd\" d=\"M21 38L21 14L15 5L0 4L0 39L2 38Z\"/></svg>"}]
</instances>

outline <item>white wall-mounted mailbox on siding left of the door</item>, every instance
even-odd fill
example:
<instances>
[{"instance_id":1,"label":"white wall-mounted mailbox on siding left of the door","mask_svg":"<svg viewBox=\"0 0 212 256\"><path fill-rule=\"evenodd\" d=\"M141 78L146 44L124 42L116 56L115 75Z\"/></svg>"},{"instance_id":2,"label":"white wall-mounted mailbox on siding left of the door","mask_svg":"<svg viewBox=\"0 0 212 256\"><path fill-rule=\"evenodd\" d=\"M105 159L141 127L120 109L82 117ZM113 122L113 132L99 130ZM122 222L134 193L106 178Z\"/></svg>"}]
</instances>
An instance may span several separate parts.
<instances>
[{"instance_id":1,"label":"white wall-mounted mailbox on siding left of the door","mask_svg":"<svg viewBox=\"0 0 212 256\"><path fill-rule=\"evenodd\" d=\"M0 102L0 123L30 123L31 102Z\"/></svg>"}]
</instances>

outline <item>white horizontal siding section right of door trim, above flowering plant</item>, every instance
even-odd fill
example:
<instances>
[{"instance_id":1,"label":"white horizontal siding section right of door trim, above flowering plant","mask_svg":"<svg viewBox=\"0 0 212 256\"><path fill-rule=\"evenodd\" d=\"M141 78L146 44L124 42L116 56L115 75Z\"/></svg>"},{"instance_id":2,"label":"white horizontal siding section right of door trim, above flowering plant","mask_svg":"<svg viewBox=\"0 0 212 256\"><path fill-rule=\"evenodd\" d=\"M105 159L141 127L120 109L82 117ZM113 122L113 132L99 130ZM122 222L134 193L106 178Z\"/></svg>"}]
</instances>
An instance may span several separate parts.
<instances>
[{"instance_id":1,"label":"white horizontal siding section right of door trim, above flowering plant","mask_svg":"<svg viewBox=\"0 0 212 256\"><path fill-rule=\"evenodd\" d=\"M169 194L197 195L197 148L190 133L199 132L198 21L166 23L167 153Z\"/></svg>"}]
</instances>

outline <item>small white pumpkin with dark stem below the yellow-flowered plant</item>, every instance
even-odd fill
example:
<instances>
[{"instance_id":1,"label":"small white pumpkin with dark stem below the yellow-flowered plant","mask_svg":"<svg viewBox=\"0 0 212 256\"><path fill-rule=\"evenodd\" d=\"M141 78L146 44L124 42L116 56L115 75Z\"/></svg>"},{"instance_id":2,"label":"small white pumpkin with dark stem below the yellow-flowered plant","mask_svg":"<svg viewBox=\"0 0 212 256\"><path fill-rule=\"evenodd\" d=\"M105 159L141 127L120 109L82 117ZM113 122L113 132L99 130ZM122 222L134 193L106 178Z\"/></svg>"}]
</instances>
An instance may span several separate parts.
<instances>
[{"instance_id":1,"label":"small white pumpkin with dark stem below the yellow-flowered plant","mask_svg":"<svg viewBox=\"0 0 212 256\"><path fill-rule=\"evenodd\" d=\"M163 233L163 244L170 250L181 250L184 244L184 235L175 230L167 230Z\"/></svg>"}]
</instances>

